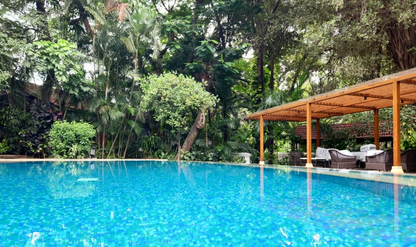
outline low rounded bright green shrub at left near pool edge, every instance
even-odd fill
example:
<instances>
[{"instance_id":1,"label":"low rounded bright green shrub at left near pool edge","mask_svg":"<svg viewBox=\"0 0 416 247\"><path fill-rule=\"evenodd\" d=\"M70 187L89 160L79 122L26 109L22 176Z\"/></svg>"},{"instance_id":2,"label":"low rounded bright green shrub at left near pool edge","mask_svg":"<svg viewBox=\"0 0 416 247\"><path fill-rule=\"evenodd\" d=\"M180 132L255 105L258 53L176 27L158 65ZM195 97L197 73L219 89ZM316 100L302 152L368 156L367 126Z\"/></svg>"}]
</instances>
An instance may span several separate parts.
<instances>
[{"instance_id":1,"label":"low rounded bright green shrub at left near pool edge","mask_svg":"<svg viewBox=\"0 0 416 247\"><path fill-rule=\"evenodd\" d=\"M94 127L89 123L59 121L49 132L49 146L58 158L79 158L88 153L94 136Z\"/></svg>"}]
</instances>

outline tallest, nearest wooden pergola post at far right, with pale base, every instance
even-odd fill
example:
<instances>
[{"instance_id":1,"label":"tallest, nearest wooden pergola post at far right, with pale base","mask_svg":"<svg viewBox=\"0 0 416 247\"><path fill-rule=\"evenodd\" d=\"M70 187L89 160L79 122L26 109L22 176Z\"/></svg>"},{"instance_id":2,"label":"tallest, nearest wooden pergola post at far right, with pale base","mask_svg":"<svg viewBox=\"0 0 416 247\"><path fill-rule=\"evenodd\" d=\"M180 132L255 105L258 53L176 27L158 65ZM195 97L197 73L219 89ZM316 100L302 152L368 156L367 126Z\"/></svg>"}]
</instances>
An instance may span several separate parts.
<instances>
[{"instance_id":1,"label":"tallest, nearest wooden pergola post at far right, with pale base","mask_svg":"<svg viewBox=\"0 0 416 247\"><path fill-rule=\"evenodd\" d=\"M400 83L393 82L393 173L403 173L400 164Z\"/></svg>"}]
</instances>

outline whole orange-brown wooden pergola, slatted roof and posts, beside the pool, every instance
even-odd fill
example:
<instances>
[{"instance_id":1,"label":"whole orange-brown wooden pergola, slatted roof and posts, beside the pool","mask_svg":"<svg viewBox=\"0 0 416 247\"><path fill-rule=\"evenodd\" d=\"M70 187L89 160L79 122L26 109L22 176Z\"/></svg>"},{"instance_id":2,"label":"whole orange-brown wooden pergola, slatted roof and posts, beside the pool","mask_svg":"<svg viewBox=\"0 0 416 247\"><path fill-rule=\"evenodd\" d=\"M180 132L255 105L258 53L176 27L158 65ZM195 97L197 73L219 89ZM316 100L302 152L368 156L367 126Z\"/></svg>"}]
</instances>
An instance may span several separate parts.
<instances>
[{"instance_id":1,"label":"whole orange-brown wooden pergola, slatted roof and posts, beside the pool","mask_svg":"<svg viewBox=\"0 0 416 247\"><path fill-rule=\"evenodd\" d=\"M374 142L379 148L378 110L393 107L393 168L402 173L400 165L400 105L416 103L416 68L336 89L273 108L258 111L246 119L260 120L260 163L264 164L264 120L306 121L306 167L312 167L312 120L317 120L317 147L320 146L321 118L364 111L374 111Z\"/></svg>"}]
</instances>

